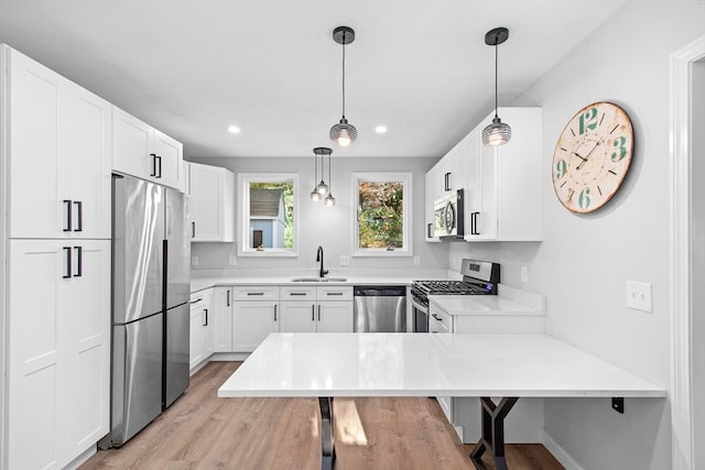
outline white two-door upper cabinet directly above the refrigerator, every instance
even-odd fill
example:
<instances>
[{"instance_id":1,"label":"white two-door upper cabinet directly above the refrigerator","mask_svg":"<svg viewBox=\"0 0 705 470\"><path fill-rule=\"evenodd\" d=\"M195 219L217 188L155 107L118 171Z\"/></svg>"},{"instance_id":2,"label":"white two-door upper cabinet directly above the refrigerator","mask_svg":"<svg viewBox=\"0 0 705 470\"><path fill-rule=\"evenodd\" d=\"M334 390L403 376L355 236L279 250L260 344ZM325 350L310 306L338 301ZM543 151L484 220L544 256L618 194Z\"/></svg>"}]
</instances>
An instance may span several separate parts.
<instances>
[{"instance_id":1,"label":"white two-door upper cabinet directly above the refrigerator","mask_svg":"<svg viewBox=\"0 0 705 470\"><path fill-rule=\"evenodd\" d=\"M185 190L183 145L120 108L112 107L112 168Z\"/></svg>"}]
</instances>

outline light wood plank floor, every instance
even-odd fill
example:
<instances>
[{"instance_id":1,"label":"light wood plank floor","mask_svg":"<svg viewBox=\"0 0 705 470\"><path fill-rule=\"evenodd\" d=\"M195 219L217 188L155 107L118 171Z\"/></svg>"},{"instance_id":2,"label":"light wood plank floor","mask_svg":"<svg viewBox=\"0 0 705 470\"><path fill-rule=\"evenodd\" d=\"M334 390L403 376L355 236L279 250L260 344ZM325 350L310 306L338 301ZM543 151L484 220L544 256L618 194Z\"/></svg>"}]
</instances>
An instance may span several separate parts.
<instances>
[{"instance_id":1,"label":"light wood plank floor","mask_svg":"<svg viewBox=\"0 0 705 470\"><path fill-rule=\"evenodd\" d=\"M218 398L239 362L210 362L174 405L88 469L321 469L315 398ZM473 469L435 400L336 398L336 469ZM488 470L495 469L487 460ZM510 470L562 470L541 445L507 446Z\"/></svg>"}]
</instances>

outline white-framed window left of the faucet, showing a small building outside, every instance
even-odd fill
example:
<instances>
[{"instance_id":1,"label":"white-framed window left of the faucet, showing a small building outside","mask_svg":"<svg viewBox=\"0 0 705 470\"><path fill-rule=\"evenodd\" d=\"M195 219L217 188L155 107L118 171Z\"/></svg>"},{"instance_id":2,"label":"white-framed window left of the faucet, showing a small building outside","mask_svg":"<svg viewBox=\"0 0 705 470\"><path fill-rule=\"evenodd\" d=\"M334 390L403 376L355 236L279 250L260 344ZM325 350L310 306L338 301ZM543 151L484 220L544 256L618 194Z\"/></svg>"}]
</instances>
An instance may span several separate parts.
<instances>
[{"instance_id":1,"label":"white-framed window left of the faucet, showing a small building outside","mask_svg":"<svg viewBox=\"0 0 705 470\"><path fill-rule=\"evenodd\" d=\"M240 174L241 255L296 255L295 174Z\"/></svg>"}]
</instances>

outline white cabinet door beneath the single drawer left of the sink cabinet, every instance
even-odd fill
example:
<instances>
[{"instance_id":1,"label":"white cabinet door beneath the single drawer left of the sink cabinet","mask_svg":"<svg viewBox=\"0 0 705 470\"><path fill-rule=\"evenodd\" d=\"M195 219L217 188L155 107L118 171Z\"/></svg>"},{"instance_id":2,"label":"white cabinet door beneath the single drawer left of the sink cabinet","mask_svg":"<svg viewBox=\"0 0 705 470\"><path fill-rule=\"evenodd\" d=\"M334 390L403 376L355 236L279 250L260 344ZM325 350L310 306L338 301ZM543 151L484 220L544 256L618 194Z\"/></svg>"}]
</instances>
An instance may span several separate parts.
<instances>
[{"instance_id":1,"label":"white cabinet door beneath the single drawer left of the sink cabinet","mask_svg":"<svg viewBox=\"0 0 705 470\"><path fill-rule=\"evenodd\" d=\"M236 302L232 310L232 350L252 352L270 332L279 331L279 302Z\"/></svg>"}]
</instances>

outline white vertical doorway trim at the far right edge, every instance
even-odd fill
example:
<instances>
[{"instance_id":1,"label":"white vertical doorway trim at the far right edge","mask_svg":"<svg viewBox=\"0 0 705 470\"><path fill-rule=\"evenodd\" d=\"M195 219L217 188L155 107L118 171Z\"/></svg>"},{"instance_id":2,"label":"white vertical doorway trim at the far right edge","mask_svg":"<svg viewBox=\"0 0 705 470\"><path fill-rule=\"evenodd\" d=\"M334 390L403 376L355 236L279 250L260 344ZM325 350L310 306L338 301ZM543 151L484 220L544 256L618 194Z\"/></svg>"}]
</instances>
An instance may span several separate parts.
<instances>
[{"instance_id":1,"label":"white vertical doorway trim at the far right edge","mask_svg":"<svg viewBox=\"0 0 705 470\"><path fill-rule=\"evenodd\" d=\"M671 446L673 470L695 464L691 266L692 64L705 36L671 55Z\"/></svg>"}]
</instances>

